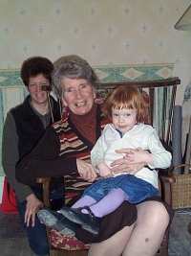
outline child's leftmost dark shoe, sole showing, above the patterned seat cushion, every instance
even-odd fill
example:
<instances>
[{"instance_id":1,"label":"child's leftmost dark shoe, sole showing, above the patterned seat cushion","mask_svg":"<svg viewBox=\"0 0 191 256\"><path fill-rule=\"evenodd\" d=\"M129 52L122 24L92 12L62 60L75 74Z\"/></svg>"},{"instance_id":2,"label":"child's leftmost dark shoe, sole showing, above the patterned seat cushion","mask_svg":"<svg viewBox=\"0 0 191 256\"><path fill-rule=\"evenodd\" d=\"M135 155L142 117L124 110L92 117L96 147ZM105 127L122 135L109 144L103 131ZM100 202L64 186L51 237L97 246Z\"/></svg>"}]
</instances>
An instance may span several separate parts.
<instances>
[{"instance_id":1,"label":"child's leftmost dark shoe, sole showing, above the patterned seat cushion","mask_svg":"<svg viewBox=\"0 0 191 256\"><path fill-rule=\"evenodd\" d=\"M63 235L74 237L77 224L64 218L63 215L49 209L42 209L38 211L37 217L46 226L59 231Z\"/></svg>"}]
</instances>

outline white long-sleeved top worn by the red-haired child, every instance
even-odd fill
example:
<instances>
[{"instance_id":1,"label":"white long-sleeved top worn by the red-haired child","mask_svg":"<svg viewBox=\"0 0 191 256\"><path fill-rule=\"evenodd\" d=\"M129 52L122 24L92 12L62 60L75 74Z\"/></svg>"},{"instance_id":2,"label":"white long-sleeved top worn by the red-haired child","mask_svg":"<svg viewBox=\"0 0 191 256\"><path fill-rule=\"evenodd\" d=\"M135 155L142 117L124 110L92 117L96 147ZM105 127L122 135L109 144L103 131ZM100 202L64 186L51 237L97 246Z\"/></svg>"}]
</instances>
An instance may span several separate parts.
<instances>
[{"instance_id":1,"label":"white long-sleeved top worn by the red-haired child","mask_svg":"<svg viewBox=\"0 0 191 256\"><path fill-rule=\"evenodd\" d=\"M110 167L112 162L121 158L121 154L116 150L124 148L141 148L153 154L152 165L148 165L149 168L140 169L135 175L158 188L158 172L155 169L168 168L172 156L162 146L156 129L149 125L138 124L121 137L113 124L106 125L91 151L93 166L96 168L97 164L105 162Z\"/></svg>"}]
</instances>

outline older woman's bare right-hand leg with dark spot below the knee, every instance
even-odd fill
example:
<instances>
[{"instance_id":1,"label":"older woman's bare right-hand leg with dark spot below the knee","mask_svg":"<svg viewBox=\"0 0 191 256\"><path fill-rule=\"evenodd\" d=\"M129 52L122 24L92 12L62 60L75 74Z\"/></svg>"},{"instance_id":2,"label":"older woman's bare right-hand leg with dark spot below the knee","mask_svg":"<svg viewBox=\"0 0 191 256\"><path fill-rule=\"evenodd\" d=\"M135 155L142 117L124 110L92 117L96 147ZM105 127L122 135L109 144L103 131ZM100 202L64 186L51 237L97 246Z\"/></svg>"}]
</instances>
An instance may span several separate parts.
<instances>
[{"instance_id":1,"label":"older woman's bare right-hand leg with dark spot below the knee","mask_svg":"<svg viewBox=\"0 0 191 256\"><path fill-rule=\"evenodd\" d=\"M138 205L138 221L123 251L123 256L153 256L159 249L169 216L158 201Z\"/></svg>"}]
</instances>

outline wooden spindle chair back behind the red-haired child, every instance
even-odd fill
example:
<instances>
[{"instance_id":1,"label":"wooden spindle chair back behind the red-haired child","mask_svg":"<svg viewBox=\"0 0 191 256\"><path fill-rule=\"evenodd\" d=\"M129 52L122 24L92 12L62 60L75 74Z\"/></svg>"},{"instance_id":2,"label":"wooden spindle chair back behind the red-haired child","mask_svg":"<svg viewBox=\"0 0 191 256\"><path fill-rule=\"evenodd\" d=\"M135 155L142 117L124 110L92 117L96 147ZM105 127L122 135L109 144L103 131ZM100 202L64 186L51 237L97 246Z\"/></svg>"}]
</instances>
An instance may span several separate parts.
<instances>
[{"instance_id":1,"label":"wooden spindle chair back behind the red-haired child","mask_svg":"<svg viewBox=\"0 0 191 256\"><path fill-rule=\"evenodd\" d=\"M118 85L137 86L146 92L149 96L150 123L158 129L161 141L169 146L178 84L180 79L175 77L155 81L101 82L96 84L96 89L101 98L105 98Z\"/></svg>"}]
</instances>

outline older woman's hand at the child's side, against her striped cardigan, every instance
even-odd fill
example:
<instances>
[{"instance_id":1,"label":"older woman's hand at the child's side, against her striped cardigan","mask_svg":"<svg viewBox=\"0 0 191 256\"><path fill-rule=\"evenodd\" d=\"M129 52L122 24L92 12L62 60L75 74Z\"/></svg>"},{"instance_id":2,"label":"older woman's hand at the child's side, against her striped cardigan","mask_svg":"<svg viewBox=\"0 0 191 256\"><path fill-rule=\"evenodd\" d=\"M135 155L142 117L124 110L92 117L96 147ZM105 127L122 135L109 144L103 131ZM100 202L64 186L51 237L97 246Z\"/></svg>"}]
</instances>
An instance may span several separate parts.
<instances>
[{"instance_id":1,"label":"older woman's hand at the child's side, against her striped cardigan","mask_svg":"<svg viewBox=\"0 0 191 256\"><path fill-rule=\"evenodd\" d=\"M96 172L93 166L83 160L76 159L77 171L81 177L93 182L96 179Z\"/></svg>"}]
</instances>

